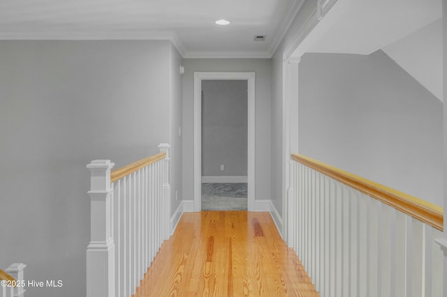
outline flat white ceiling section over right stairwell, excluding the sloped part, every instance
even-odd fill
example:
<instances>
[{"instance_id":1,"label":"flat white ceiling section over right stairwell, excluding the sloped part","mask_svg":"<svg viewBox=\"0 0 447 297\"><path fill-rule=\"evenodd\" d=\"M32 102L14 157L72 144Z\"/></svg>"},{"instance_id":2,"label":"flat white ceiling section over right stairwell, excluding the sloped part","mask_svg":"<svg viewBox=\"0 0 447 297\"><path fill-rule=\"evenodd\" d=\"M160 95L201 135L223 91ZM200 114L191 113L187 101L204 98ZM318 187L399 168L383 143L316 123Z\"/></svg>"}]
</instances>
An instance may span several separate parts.
<instances>
[{"instance_id":1,"label":"flat white ceiling section over right stairwell, excluding the sloped part","mask_svg":"<svg viewBox=\"0 0 447 297\"><path fill-rule=\"evenodd\" d=\"M358 0L309 52L371 54L442 17L442 0Z\"/></svg>"}]
</instances>

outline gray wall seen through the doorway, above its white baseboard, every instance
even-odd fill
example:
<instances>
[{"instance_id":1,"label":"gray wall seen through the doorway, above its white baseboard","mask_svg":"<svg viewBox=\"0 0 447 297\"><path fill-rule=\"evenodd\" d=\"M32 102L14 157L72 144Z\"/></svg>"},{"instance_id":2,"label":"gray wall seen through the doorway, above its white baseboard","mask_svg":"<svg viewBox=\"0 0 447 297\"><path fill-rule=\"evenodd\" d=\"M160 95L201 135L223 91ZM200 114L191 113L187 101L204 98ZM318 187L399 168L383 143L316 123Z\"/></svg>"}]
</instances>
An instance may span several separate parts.
<instances>
[{"instance_id":1,"label":"gray wall seen through the doorway, above its white baseboard","mask_svg":"<svg viewBox=\"0 0 447 297\"><path fill-rule=\"evenodd\" d=\"M247 80L203 80L202 91L202 175L247 176Z\"/></svg>"}]
</instances>

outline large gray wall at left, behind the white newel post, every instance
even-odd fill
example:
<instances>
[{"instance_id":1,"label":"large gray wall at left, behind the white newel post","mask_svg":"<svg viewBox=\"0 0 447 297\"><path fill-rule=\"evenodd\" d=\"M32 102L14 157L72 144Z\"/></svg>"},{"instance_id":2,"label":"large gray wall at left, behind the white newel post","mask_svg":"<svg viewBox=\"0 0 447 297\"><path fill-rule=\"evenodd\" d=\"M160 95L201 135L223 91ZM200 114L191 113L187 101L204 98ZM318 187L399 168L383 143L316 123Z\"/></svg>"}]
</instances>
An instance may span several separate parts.
<instances>
[{"instance_id":1,"label":"large gray wall at left, behind the white newel post","mask_svg":"<svg viewBox=\"0 0 447 297\"><path fill-rule=\"evenodd\" d=\"M0 41L0 220L9 226L0 229L0 267L24 262L28 280L64 282L28 296L85 296L85 166L120 167L170 141L169 47Z\"/></svg>"}]
</instances>

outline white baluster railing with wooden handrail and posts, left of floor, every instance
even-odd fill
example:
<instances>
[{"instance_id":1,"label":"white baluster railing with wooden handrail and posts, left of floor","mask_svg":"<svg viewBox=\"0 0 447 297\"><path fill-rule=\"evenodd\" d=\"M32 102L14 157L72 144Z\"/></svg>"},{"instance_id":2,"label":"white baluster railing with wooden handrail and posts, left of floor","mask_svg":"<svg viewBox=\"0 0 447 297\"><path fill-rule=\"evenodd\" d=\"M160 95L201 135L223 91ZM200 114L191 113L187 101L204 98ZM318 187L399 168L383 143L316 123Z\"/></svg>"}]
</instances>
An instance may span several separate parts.
<instances>
[{"instance_id":1,"label":"white baluster railing with wooden handrail and posts, left of floor","mask_svg":"<svg viewBox=\"0 0 447 297\"><path fill-rule=\"evenodd\" d=\"M91 241L87 297L131 296L164 240L170 236L169 145L131 165L91 170Z\"/></svg>"}]
</instances>

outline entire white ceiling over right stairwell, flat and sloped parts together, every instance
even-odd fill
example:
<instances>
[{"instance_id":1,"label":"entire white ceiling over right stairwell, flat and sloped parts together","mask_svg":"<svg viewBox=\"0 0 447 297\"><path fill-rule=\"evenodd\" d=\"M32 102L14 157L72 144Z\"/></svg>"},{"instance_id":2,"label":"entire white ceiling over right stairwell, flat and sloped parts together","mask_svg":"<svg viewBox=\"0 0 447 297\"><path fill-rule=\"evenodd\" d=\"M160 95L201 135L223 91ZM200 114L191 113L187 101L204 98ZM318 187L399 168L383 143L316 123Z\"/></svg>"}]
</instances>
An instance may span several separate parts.
<instances>
[{"instance_id":1,"label":"entire white ceiling over right stairwell, flat and sloped parts together","mask_svg":"<svg viewBox=\"0 0 447 297\"><path fill-rule=\"evenodd\" d=\"M441 0L358 0L346 7L309 52L371 54L383 50L443 100Z\"/></svg>"}]
</instances>

